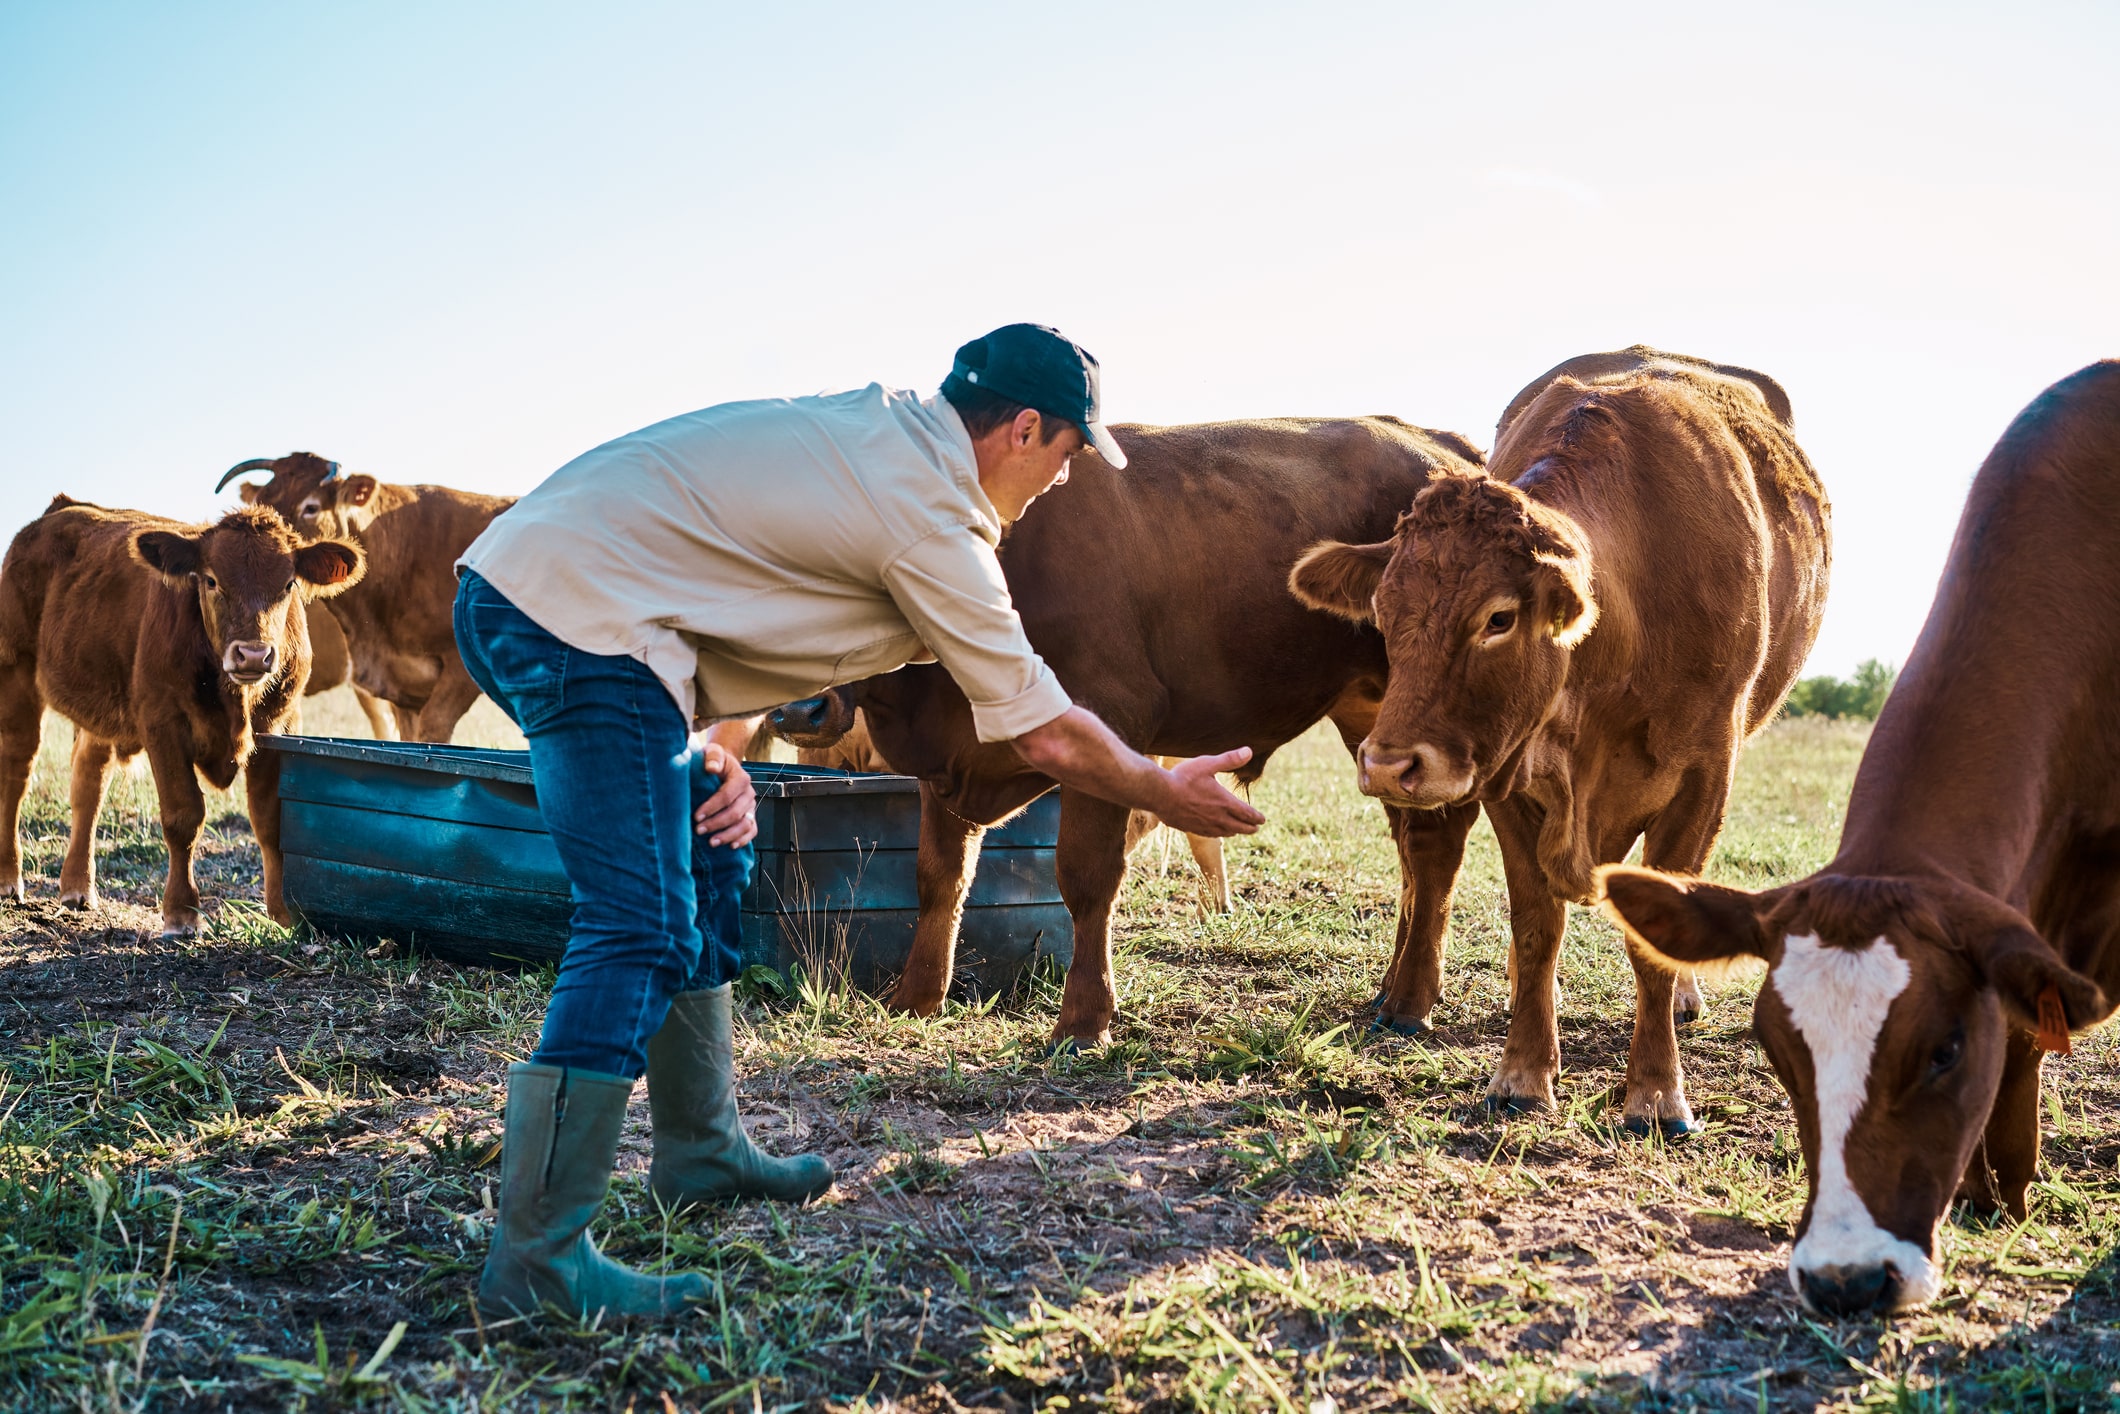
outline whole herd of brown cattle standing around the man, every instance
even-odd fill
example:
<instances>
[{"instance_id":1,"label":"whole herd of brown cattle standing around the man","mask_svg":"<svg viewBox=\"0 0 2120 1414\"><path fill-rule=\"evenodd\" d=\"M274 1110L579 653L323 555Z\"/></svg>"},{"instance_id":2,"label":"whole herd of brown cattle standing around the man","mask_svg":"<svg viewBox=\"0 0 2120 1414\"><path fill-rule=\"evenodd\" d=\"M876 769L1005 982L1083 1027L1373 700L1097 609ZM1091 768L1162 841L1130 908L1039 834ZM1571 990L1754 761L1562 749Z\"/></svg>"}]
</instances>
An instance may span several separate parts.
<instances>
[{"instance_id":1,"label":"whole herd of brown cattle standing around the man","mask_svg":"<svg viewBox=\"0 0 2120 1414\"><path fill-rule=\"evenodd\" d=\"M1427 1028L1465 837L1501 842L1512 1011L1488 1102L1552 1104L1569 903L1622 924L1637 1011L1622 1119L1694 1128L1677 1022L1696 971L1764 962L1755 1028L1794 1098L1808 1204L1789 1272L1832 1312L1938 1287L1959 1198L2025 1213L2039 1066L2120 998L2120 363L2046 390L1978 477L1855 780L1834 861L1745 892L1694 878L1745 740L1817 638L1825 490L1770 377L1649 348L1569 360L1501 416L1492 456L1397 418L1121 426L1003 545L1030 640L1141 750L1251 746L1244 778L1329 719L1401 867L1378 1026ZM74 731L64 903L95 905L95 816L144 750L197 926L204 776L246 776L267 912L278 772L257 736L352 681L377 736L447 740L477 697L449 630L454 560L509 507L242 462L212 526L57 496L0 566L0 892L47 708ZM950 990L982 831L1052 789L982 744L937 666L772 717L791 742L920 778L920 924L899 1007ZM244 767L248 765L248 772ZM1062 793L1075 918L1054 1039L1117 1009L1111 912L1147 820ZM1643 867L1620 861L1643 842ZM1196 842L1211 905L1219 848Z\"/></svg>"}]
</instances>

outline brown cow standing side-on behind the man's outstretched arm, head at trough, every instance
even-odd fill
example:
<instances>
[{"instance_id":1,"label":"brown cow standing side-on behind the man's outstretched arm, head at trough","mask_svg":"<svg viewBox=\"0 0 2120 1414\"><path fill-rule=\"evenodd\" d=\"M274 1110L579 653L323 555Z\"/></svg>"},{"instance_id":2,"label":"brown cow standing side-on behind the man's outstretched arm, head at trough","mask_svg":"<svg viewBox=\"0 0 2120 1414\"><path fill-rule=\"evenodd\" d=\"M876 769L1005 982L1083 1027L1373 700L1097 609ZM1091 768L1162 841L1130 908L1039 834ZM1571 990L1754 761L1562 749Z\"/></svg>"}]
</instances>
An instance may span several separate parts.
<instances>
[{"instance_id":1,"label":"brown cow standing side-on behind the man's outstretched arm, head at trough","mask_svg":"<svg viewBox=\"0 0 2120 1414\"><path fill-rule=\"evenodd\" d=\"M1136 750L1196 757L1251 746L1240 782L1329 717L1353 746L1384 689L1374 630L1331 623L1283 583L1321 536L1374 536L1437 473L1480 452L1397 418L1287 418L1119 426L1128 466L1077 454L1001 545L1030 644L1075 702ZM971 708L935 666L827 695L844 725L859 704L884 757L920 778L920 922L893 1003L933 1013L950 990L956 924L984 827L1052 789L1007 742L982 744ZM806 723L808 725L808 723ZM1062 789L1060 897L1075 920L1056 1043L1111 1035L1111 905L1126 876L1128 808ZM1389 810L1408 882L1423 873L1429 816ZM1401 931L1406 918L1401 909Z\"/></svg>"}]
</instances>

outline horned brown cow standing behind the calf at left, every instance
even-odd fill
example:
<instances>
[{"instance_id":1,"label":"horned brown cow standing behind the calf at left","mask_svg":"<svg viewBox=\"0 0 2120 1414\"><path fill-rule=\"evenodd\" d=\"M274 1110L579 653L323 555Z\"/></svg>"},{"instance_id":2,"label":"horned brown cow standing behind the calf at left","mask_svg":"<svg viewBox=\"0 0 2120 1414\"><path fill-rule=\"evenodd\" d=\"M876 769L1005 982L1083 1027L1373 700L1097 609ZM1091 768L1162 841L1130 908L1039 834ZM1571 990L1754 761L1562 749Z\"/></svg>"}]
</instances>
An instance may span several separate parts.
<instances>
[{"instance_id":1,"label":"horned brown cow standing behind the calf at left","mask_svg":"<svg viewBox=\"0 0 2120 1414\"><path fill-rule=\"evenodd\" d=\"M354 541L367 553L369 572L329 604L346 630L354 685L396 708L407 742L447 742L479 700L452 628L456 558L515 498L346 477L310 452L237 462L214 490L250 471L271 479L244 481L248 505L271 507L303 536Z\"/></svg>"}]
</instances>

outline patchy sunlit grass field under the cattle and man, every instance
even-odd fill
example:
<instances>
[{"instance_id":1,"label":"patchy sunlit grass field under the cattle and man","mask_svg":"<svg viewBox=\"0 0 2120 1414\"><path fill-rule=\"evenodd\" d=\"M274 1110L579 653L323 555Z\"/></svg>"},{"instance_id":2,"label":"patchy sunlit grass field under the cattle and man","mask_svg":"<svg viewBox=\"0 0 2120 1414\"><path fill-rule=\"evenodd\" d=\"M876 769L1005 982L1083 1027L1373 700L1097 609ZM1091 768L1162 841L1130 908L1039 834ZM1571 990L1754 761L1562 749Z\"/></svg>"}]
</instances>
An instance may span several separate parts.
<instances>
[{"instance_id":1,"label":"patchy sunlit grass field under the cattle and man","mask_svg":"<svg viewBox=\"0 0 2120 1414\"><path fill-rule=\"evenodd\" d=\"M356 733L352 704L312 731ZM460 740L505 744L479 704ZM1927 1312L1789 1297L1794 1124L1751 988L1683 1032L1707 1132L1615 1134L1632 986L1577 912L1560 1111L1480 1104L1507 909L1473 835L1448 992L1420 1041L1365 1035L1395 869L1323 736L1230 848L1238 912L1136 856L1121 1018L1047 1058L1045 979L935 1020L746 986L746 1111L840 1185L806 1208L664 1219L647 1109L606 1247L700 1266L668 1331L479 1323L500 1079L547 977L458 971L263 920L240 797L201 848L210 926L153 939L153 786L104 816L106 903L57 907L66 727L0 909L0 1406L23 1410L2075 1410L2120 1406L2120 1049L2048 1066L2027 1223L1963 1219ZM1781 723L1745 759L1717 878L1832 852L1863 729Z\"/></svg>"}]
</instances>

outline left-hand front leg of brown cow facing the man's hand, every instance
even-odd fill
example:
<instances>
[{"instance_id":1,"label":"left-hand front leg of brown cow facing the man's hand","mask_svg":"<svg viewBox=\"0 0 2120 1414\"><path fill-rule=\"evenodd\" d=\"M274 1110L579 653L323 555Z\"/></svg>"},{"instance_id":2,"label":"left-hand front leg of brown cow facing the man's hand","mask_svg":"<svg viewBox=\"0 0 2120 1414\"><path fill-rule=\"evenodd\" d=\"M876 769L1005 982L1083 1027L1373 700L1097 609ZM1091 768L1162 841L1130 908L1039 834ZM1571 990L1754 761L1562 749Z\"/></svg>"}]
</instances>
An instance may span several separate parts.
<instances>
[{"instance_id":1,"label":"left-hand front leg of brown cow facing the man's hand","mask_svg":"<svg viewBox=\"0 0 2120 1414\"><path fill-rule=\"evenodd\" d=\"M1560 1075L1560 1020L1554 982L1560 973L1560 933L1569 905L1556 897L1539 865L1541 812L1520 797L1490 803L1486 818L1501 842L1509 884L1509 1039L1501 1066L1486 1085L1486 1102L1501 1111L1550 1109Z\"/></svg>"}]
</instances>

